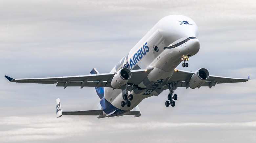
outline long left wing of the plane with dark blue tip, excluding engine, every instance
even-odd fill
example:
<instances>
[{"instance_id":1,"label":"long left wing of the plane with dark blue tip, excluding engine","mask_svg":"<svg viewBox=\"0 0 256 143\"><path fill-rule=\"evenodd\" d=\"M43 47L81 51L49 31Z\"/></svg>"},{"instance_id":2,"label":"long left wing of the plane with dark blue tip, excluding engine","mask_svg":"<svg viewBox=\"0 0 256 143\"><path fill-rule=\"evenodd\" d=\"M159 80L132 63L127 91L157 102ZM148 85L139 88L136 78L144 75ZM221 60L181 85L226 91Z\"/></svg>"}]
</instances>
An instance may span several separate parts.
<instances>
[{"instance_id":1,"label":"long left wing of the plane with dark blue tip, excluding engine","mask_svg":"<svg viewBox=\"0 0 256 143\"><path fill-rule=\"evenodd\" d=\"M149 67L143 70L132 70L132 76L129 79L129 84L139 84L143 81L150 71L154 68ZM77 76L63 76L63 77L45 77L45 78L20 78L13 79L5 76L10 82L17 83L39 83L39 84L57 84L57 87L112 87L111 81L115 73L101 73ZM125 89L124 86L119 89Z\"/></svg>"}]
</instances>

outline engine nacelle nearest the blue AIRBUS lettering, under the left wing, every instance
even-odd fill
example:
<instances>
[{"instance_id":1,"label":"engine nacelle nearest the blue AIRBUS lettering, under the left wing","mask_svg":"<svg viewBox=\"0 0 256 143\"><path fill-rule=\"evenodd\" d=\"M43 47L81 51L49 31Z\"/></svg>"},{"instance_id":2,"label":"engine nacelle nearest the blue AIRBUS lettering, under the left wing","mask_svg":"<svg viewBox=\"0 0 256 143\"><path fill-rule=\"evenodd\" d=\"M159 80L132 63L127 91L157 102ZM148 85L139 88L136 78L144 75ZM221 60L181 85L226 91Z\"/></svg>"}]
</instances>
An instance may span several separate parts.
<instances>
[{"instance_id":1,"label":"engine nacelle nearest the blue AIRBUS lettering, under the left wing","mask_svg":"<svg viewBox=\"0 0 256 143\"><path fill-rule=\"evenodd\" d=\"M117 71L117 73L114 75L111 81L111 86L113 88L121 87L128 82L131 76L132 76L132 73L129 69L122 68L119 71Z\"/></svg>"}]
</instances>

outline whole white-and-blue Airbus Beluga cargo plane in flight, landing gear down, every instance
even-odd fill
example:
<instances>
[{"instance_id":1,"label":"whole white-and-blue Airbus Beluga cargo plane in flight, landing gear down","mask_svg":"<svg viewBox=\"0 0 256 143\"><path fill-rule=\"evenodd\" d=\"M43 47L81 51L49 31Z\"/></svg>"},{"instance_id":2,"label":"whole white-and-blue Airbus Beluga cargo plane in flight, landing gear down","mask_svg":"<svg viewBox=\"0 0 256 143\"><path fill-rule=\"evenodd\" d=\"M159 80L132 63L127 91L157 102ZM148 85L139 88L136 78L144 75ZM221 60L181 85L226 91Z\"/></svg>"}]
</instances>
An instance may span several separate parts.
<instances>
[{"instance_id":1,"label":"whole white-and-blue Airbus Beluga cargo plane in flight, landing gear down","mask_svg":"<svg viewBox=\"0 0 256 143\"><path fill-rule=\"evenodd\" d=\"M198 27L189 17L171 15L162 18L110 73L99 73L95 68L90 75L13 79L11 82L56 84L57 87L95 87L100 98L97 110L62 111L56 100L57 117L62 115L96 115L98 118L123 115L141 115L138 104L145 98L158 96L168 89L165 106L175 106L178 87L214 87L216 84L245 82L241 78L213 76L205 68L195 72L175 69L199 51Z\"/></svg>"}]
</instances>

